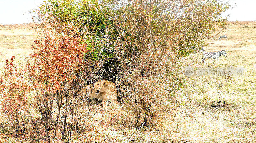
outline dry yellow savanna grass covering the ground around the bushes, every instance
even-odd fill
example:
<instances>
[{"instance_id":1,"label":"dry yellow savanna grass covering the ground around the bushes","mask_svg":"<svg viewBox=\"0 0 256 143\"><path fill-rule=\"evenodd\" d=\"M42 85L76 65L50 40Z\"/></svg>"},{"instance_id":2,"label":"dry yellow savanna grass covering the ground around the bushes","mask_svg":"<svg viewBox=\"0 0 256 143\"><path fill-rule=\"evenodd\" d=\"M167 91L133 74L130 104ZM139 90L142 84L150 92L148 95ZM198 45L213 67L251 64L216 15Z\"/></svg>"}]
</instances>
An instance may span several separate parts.
<instances>
[{"instance_id":1,"label":"dry yellow savanna grass covering the ground around the bushes","mask_svg":"<svg viewBox=\"0 0 256 143\"><path fill-rule=\"evenodd\" d=\"M229 22L227 29L208 39L209 46L205 47L205 51L210 52L226 50L227 57L221 56L220 63L206 60L206 65L201 65L200 55L181 60L184 68L188 65L193 68L244 67L242 76L233 76L229 81L212 75L187 77L186 84L178 91L181 102L177 107L179 111L186 109L186 114L163 115L157 129L144 131L133 128L132 111L124 108L126 103L119 103L117 110L110 106L100 111L95 106L85 131L76 134L73 142L256 142L255 33L256 22ZM0 35L1 67L12 55L16 62L23 62L23 56L32 52L30 47L35 35L31 27L0 27ZM227 35L228 39L218 41L220 35ZM220 104L212 101L217 101L218 91L225 105L223 101ZM3 125L3 119L0 120ZM3 133L0 138L3 142L16 139Z\"/></svg>"}]
</instances>

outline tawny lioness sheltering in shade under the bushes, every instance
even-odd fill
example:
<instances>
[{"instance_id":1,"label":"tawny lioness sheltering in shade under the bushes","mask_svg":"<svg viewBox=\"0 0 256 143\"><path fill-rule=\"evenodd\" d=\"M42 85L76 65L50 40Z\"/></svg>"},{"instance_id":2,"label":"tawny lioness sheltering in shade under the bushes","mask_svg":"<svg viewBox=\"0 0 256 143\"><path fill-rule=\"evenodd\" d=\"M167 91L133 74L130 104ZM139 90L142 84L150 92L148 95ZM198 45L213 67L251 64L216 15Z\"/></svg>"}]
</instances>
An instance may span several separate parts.
<instances>
[{"instance_id":1,"label":"tawny lioness sheltering in shade under the bushes","mask_svg":"<svg viewBox=\"0 0 256 143\"><path fill-rule=\"evenodd\" d=\"M102 110L107 109L108 100L117 108L117 92L116 85L108 80L99 80L95 84L84 86L82 94L89 96L89 99L99 99L102 101Z\"/></svg>"}]
</instances>

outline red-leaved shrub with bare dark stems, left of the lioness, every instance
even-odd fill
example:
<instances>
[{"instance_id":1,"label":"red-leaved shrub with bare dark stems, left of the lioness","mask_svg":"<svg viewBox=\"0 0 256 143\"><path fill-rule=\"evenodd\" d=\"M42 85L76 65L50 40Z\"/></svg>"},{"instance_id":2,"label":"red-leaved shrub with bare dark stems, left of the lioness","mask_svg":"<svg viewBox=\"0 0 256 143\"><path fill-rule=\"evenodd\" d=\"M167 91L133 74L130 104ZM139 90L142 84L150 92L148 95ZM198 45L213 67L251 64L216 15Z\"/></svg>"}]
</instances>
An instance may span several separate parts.
<instances>
[{"instance_id":1,"label":"red-leaved shrub with bare dark stems, left of the lioness","mask_svg":"<svg viewBox=\"0 0 256 143\"><path fill-rule=\"evenodd\" d=\"M55 136L59 137L60 122L64 123L62 128L68 127L65 124L67 118L65 108L69 106L72 113L78 114L79 100L76 102L73 100L79 98L73 96L80 95L79 87L83 86L84 82L80 84L79 81L84 80L84 75L90 73L91 66L95 63L83 59L84 54L88 53L86 44L83 39L71 32L71 28L65 29L59 36L46 35L42 40L36 40L35 43L37 47L33 47L34 53L31 58L26 59L27 67L24 71L32 89L35 90L34 99L37 101L43 121L43 124L35 122L34 126L39 133L38 126L43 125L46 131L45 139L49 139L49 131L53 127ZM76 93L77 91L78 93ZM66 97L66 101L63 99L64 97ZM73 101L70 104L74 105L69 105L69 98ZM62 103L65 104L65 107L62 107ZM73 108L76 111L73 111ZM73 119L73 121L76 122L77 119ZM64 130L66 131L66 129ZM64 134L66 134L65 131ZM64 136L63 138L65 138Z\"/></svg>"}]
</instances>

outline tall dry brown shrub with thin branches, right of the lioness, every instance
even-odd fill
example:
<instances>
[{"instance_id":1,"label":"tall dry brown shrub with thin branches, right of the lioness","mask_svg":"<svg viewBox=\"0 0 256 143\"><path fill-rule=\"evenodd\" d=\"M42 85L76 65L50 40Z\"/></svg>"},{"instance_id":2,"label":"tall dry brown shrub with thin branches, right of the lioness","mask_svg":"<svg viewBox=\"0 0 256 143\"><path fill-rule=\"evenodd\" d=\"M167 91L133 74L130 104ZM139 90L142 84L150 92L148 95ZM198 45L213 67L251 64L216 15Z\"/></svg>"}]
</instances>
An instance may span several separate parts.
<instances>
[{"instance_id":1,"label":"tall dry brown shrub with thin branches, right of the lioness","mask_svg":"<svg viewBox=\"0 0 256 143\"><path fill-rule=\"evenodd\" d=\"M154 128L160 115L176 112L176 90L182 86L178 61L186 55L184 49L202 44L216 30L216 16L225 4L118 0L104 8L118 31L113 43L121 67L117 83L133 110L134 126Z\"/></svg>"}]
</instances>

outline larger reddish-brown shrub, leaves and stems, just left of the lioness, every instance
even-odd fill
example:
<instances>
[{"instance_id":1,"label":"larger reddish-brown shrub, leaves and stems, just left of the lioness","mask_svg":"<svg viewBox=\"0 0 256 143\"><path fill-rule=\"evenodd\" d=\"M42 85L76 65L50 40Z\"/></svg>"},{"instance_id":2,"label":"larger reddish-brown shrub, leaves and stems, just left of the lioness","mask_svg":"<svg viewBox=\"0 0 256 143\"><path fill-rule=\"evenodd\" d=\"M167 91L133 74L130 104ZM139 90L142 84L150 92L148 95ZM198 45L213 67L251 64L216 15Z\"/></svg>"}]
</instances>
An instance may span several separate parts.
<instances>
[{"instance_id":1,"label":"larger reddish-brown shrub, leaves and stems, just left of the lioness","mask_svg":"<svg viewBox=\"0 0 256 143\"><path fill-rule=\"evenodd\" d=\"M99 80L100 64L84 59L84 54L91 55L83 39L71 29L63 29L58 36L46 35L36 40L34 53L26 59L25 73L31 90L35 91L36 108L41 114L41 121L36 114L30 121L38 134L44 134L38 135L38 139L41 136L50 140L51 129L59 138L61 128L62 139L70 140L77 129L83 131L91 114L90 105L85 104L88 97L81 91L84 85Z\"/></svg>"}]
</instances>

